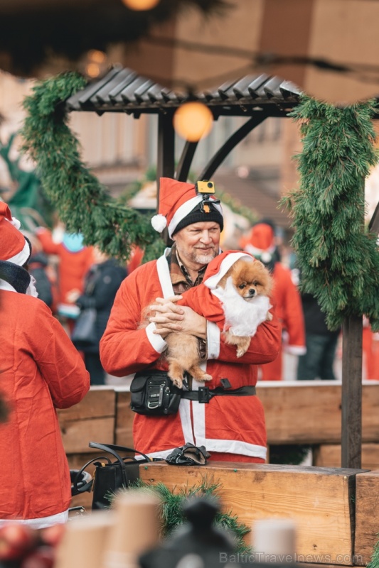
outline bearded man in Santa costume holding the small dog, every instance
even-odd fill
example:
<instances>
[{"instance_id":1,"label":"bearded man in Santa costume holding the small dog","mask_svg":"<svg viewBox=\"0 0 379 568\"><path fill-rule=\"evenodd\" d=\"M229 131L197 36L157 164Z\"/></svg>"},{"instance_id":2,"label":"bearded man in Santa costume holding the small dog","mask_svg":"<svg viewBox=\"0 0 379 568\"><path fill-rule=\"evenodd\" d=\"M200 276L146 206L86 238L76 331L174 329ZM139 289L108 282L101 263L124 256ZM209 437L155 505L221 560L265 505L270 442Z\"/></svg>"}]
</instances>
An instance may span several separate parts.
<instances>
[{"instance_id":1,"label":"bearded man in Santa costume holding the small dog","mask_svg":"<svg viewBox=\"0 0 379 568\"><path fill-rule=\"evenodd\" d=\"M231 391L257 382L257 365L277 357L281 327L273 315L263 322L240 359L235 346L227 345L220 327L188 306L179 306L176 295L203 280L208 263L220 253L223 214L218 200L202 195L196 186L161 178L159 214L151 220L154 229L168 229L174 241L157 261L139 266L120 286L107 329L100 342L105 370L125 376L146 368L166 369L165 337L184 332L198 337L203 366L212 381L188 381L196 393L201 386ZM146 311L147 325L141 323ZM252 389L254 391L254 389ZM213 396L208 403L181 399L178 413L167 416L136 414L134 447L151 457L167 457L176 447L191 443L205 446L217 461L264 462L265 416L257 395Z\"/></svg>"}]
</instances>

